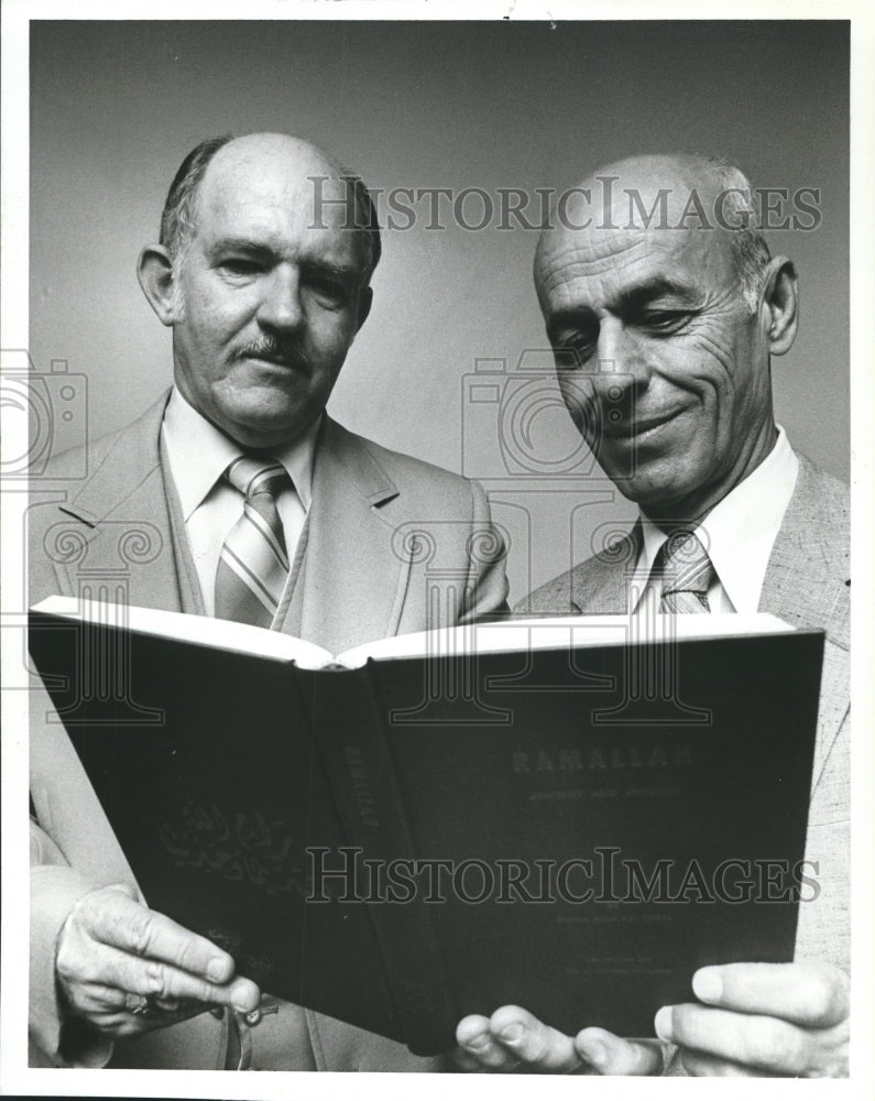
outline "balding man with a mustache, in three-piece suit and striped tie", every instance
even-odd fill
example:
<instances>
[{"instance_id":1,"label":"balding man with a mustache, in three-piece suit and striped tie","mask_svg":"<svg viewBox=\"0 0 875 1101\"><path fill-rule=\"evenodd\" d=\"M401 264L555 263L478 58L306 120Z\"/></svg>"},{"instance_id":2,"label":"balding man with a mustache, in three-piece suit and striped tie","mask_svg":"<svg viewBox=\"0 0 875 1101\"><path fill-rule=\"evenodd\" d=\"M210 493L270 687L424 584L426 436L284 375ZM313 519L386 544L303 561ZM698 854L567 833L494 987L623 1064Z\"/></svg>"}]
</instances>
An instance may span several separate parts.
<instances>
[{"instance_id":1,"label":"balding man with a mustache, in three-piece suit and striped tie","mask_svg":"<svg viewBox=\"0 0 875 1101\"><path fill-rule=\"evenodd\" d=\"M395 539L419 523L437 525L431 565L455 578L449 617L501 608L501 562L468 553L489 530L482 490L325 413L379 258L363 184L313 145L281 134L198 145L171 187L161 242L139 263L150 305L173 330L173 389L91 444L85 467L65 455L46 472L62 479L64 499L31 516L32 600L77 593L77 563L53 553L58 531L69 532L91 574L117 576L122 555L132 604L256 623L339 653L437 625L428 564L405 558L409 541ZM88 475L72 482L80 469ZM144 528L147 553L124 557L125 533L142 546ZM438 1065L263 999L227 952L149 911L63 728L45 721L47 698L32 696L32 1061Z\"/></svg>"}]
</instances>

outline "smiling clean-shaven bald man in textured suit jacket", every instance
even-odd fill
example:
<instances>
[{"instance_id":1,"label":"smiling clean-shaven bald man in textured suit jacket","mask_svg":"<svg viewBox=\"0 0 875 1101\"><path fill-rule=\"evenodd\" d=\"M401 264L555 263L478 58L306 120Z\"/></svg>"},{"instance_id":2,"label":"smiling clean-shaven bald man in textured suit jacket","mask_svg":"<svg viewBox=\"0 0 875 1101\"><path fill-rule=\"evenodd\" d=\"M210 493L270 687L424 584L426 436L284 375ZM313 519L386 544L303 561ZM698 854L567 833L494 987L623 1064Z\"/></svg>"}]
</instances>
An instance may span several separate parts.
<instances>
[{"instance_id":1,"label":"smiling clean-shaven bald man in textured suit jacket","mask_svg":"<svg viewBox=\"0 0 875 1101\"><path fill-rule=\"evenodd\" d=\"M750 221L735 168L643 156L584 179L543 233L535 282L575 423L641 510L624 539L521 610L555 614L772 612L827 634L806 857L818 897L795 962L691 975L698 1002L655 1032L691 1075L847 1071L849 502L775 425L772 356L796 336L797 276ZM669 536L682 537L669 541ZM677 571L664 547L694 548ZM739 793L744 814L744 793ZM765 904L765 903L764 903ZM587 1028L573 1040L513 1006L469 1017L459 1040L494 1069L655 1073L672 1049Z\"/></svg>"}]
</instances>

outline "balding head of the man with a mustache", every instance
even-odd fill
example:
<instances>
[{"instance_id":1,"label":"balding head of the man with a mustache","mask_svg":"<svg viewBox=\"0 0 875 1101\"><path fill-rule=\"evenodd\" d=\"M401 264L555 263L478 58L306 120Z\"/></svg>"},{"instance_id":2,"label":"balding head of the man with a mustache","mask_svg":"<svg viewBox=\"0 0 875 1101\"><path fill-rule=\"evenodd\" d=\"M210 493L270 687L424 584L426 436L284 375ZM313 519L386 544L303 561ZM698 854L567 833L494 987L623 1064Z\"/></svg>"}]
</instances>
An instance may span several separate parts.
<instances>
[{"instance_id":1,"label":"balding head of the man with a mustache","mask_svg":"<svg viewBox=\"0 0 875 1101\"><path fill-rule=\"evenodd\" d=\"M173 329L179 393L243 448L284 446L325 408L373 297L379 231L356 215L353 177L286 134L206 142L174 181L140 284Z\"/></svg>"}]
</instances>

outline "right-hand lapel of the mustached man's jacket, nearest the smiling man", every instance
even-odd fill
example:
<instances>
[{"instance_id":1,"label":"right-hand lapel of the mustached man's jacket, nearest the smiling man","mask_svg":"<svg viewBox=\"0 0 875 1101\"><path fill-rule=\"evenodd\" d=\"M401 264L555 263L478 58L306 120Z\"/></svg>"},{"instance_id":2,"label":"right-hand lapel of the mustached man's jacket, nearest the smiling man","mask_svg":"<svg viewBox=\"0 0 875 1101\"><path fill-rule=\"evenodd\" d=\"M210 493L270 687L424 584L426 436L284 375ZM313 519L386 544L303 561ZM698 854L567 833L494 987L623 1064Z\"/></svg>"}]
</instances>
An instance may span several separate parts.
<instances>
[{"instance_id":1,"label":"right-hand lapel of the mustached man's jacket, nearest the smiling man","mask_svg":"<svg viewBox=\"0 0 875 1101\"><path fill-rule=\"evenodd\" d=\"M326 417L293 610L297 633L332 654L397 629L409 562L393 552L395 527L381 512L397 495L364 442Z\"/></svg>"}]
</instances>

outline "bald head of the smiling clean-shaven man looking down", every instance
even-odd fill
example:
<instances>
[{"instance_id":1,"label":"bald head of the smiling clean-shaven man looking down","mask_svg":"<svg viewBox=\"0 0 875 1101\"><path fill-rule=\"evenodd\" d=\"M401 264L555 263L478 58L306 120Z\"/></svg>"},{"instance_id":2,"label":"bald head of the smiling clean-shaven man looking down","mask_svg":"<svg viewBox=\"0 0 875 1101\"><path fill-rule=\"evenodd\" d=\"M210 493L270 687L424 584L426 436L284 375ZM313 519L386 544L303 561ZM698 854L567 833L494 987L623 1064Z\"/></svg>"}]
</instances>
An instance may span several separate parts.
<instances>
[{"instance_id":1,"label":"bald head of the smiling clean-shaven man looking down","mask_svg":"<svg viewBox=\"0 0 875 1101\"><path fill-rule=\"evenodd\" d=\"M796 334L796 273L751 221L737 170L639 156L566 192L538 243L566 404L657 522L707 515L776 439L769 357Z\"/></svg>"}]
</instances>

